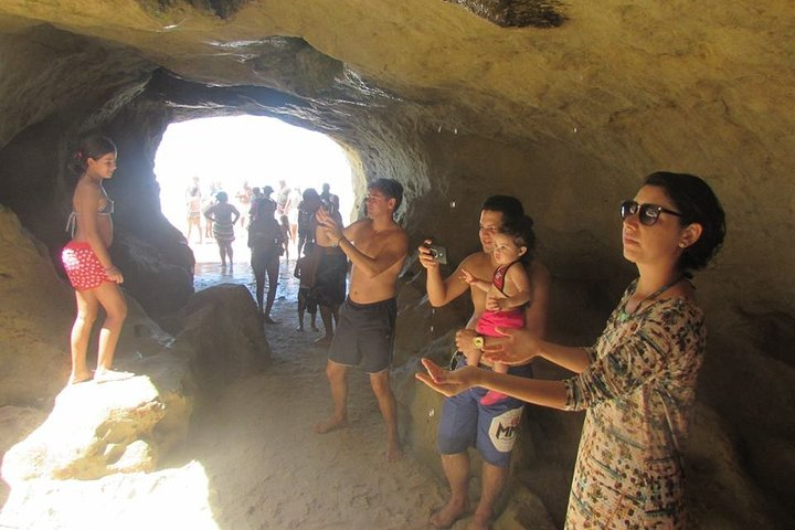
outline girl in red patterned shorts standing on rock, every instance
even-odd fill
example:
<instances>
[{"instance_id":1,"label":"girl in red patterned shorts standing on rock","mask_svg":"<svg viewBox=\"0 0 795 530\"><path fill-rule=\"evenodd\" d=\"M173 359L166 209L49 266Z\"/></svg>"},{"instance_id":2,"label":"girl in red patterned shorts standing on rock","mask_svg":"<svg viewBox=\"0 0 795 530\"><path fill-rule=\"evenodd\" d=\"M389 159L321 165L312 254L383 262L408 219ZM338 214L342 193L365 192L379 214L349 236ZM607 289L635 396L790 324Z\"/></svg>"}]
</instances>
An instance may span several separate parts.
<instances>
[{"instance_id":1,"label":"girl in red patterned shorts standing on rock","mask_svg":"<svg viewBox=\"0 0 795 530\"><path fill-rule=\"evenodd\" d=\"M72 234L62 252L66 275L75 289L77 318L72 327L72 374L70 384L94 379L97 382L130 378L128 372L112 370L127 303L118 284L121 272L110 261L113 242L113 201L103 189L103 181L116 171L116 146L102 136L85 138L74 153L71 168L80 176L72 198L72 213L66 230ZM94 374L86 367L88 337L99 306L105 321L99 330L97 368Z\"/></svg>"}]
</instances>

